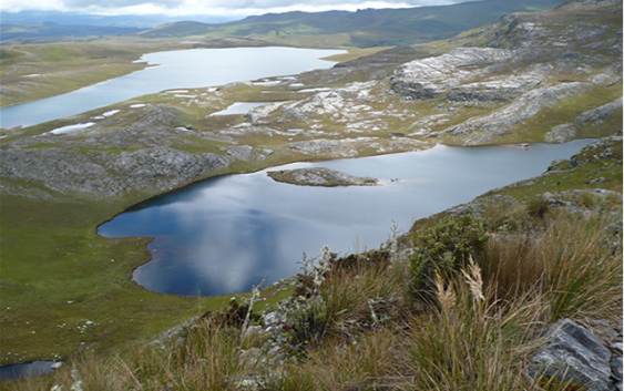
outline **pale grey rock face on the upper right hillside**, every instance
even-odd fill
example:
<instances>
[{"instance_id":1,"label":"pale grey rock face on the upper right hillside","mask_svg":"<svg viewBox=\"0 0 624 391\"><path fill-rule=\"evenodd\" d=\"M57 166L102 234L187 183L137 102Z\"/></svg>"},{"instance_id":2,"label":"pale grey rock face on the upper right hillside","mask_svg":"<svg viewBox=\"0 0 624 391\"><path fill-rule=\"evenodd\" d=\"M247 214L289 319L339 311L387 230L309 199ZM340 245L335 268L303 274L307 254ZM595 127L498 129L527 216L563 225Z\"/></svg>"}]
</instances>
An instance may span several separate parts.
<instances>
[{"instance_id":1,"label":"pale grey rock face on the upper right hillside","mask_svg":"<svg viewBox=\"0 0 624 391\"><path fill-rule=\"evenodd\" d=\"M390 91L407 100L482 107L484 113L450 124L434 136L451 136L457 140L453 143L461 140L466 145L491 143L521 130L526 120L549 106L622 80L621 28L600 19L569 23L575 13L621 13L621 4L569 1L550 12L504 16L450 40L456 45L480 48L457 48L399 66L390 78ZM580 113L573 123L553 125L544 141L567 141L583 126L600 125L621 107L620 97Z\"/></svg>"}]
</instances>

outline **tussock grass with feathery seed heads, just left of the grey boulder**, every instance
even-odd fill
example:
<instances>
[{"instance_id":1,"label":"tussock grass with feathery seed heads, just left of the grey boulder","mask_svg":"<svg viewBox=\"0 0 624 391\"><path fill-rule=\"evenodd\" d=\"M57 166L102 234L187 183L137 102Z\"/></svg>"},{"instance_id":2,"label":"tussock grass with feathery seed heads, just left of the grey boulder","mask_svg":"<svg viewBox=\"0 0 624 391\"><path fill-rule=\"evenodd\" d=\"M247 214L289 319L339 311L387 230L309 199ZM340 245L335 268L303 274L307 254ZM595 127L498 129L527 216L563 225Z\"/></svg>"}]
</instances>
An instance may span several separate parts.
<instances>
[{"instance_id":1,"label":"tussock grass with feathery seed heads, just left of the grey boulder","mask_svg":"<svg viewBox=\"0 0 624 391\"><path fill-rule=\"evenodd\" d=\"M475 264L462 275L450 281L438 277L439 307L411 319L405 372L413 373L413 381L402 389L525 389L523 363L535 344L541 297L528 292L503 305Z\"/></svg>"}]
</instances>

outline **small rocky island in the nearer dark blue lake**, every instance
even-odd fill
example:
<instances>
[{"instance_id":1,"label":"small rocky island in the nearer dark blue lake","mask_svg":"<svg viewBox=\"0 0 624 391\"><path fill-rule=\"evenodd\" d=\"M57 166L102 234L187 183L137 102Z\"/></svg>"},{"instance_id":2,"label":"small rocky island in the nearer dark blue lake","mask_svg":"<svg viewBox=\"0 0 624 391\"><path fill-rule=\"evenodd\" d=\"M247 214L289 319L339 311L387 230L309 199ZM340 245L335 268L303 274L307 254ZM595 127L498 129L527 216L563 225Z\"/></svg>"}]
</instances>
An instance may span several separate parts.
<instances>
[{"instance_id":1,"label":"small rocky island in the nearer dark blue lake","mask_svg":"<svg viewBox=\"0 0 624 391\"><path fill-rule=\"evenodd\" d=\"M274 181L299 186L375 186L378 179L369 176L352 176L327 167L269 171Z\"/></svg>"}]
</instances>

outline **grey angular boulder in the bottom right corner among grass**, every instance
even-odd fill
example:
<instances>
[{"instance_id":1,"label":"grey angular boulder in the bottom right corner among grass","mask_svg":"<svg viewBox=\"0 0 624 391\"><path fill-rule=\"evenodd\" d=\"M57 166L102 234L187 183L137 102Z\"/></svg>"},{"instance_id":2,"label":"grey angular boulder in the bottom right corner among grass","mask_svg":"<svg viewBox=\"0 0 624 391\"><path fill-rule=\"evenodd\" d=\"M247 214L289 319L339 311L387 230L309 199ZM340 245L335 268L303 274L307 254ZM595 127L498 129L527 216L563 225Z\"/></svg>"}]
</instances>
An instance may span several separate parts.
<instances>
[{"instance_id":1,"label":"grey angular boulder in the bottom right corner among grass","mask_svg":"<svg viewBox=\"0 0 624 391\"><path fill-rule=\"evenodd\" d=\"M544 349L531 358L533 378L580 383L587 391L608 390L611 352L587 329L570 319L554 323Z\"/></svg>"}]
</instances>

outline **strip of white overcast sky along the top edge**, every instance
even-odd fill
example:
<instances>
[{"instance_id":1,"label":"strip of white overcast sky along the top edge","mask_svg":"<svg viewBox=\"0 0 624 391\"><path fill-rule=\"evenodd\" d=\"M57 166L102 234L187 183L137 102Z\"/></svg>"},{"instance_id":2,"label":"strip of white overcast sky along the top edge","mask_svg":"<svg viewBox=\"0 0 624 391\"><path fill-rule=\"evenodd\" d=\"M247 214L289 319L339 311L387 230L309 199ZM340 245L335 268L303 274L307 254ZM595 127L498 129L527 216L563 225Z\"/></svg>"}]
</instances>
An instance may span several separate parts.
<instances>
[{"instance_id":1,"label":"strip of white overcast sky along the top edge","mask_svg":"<svg viewBox=\"0 0 624 391\"><path fill-rule=\"evenodd\" d=\"M443 6L468 0L2 0L2 12L72 11L95 14L167 14L171 17L252 16L287 11L356 11L361 8Z\"/></svg>"}]
</instances>

